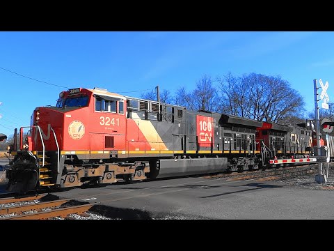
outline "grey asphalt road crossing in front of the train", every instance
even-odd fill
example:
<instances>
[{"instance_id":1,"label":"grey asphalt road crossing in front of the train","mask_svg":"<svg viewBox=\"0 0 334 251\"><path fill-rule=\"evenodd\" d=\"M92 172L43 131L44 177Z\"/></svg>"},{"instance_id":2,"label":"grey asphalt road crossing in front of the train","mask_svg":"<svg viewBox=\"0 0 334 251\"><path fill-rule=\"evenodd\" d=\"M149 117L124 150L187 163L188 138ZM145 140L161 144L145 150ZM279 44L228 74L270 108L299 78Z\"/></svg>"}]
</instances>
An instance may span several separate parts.
<instances>
[{"instance_id":1,"label":"grey asphalt road crossing in front of the train","mask_svg":"<svg viewBox=\"0 0 334 251\"><path fill-rule=\"evenodd\" d=\"M0 165L7 163L0 160ZM0 184L0 193L4 187ZM311 190L280 181L195 176L51 194L82 203L98 202L95 211L117 219L334 219L333 190Z\"/></svg>"}]
</instances>

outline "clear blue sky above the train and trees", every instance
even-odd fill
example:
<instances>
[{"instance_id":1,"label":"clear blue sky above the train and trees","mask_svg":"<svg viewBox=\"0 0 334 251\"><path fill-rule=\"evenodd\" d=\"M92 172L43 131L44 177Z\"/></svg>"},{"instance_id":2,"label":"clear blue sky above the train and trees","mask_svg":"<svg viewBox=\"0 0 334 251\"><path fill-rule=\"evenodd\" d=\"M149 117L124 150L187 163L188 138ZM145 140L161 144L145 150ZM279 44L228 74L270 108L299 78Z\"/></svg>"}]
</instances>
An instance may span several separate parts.
<instances>
[{"instance_id":1,"label":"clear blue sky above the train and trees","mask_svg":"<svg viewBox=\"0 0 334 251\"><path fill-rule=\"evenodd\" d=\"M35 107L70 88L140 97L228 72L280 75L314 112L313 79L334 101L333 44L333 31L0 31L0 132L29 126Z\"/></svg>"}]
</instances>

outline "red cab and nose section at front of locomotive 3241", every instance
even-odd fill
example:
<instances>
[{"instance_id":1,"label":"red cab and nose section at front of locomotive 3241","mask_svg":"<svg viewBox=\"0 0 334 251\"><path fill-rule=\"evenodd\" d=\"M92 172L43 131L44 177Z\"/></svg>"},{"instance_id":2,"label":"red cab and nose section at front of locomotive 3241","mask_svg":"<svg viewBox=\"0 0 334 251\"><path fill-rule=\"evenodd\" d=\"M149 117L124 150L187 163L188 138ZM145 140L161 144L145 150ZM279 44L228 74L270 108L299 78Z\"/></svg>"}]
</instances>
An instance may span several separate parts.
<instances>
[{"instance_id":1,"label":"red cab and nose section at front of locomotive 3241","mask_svg":"<svg viewBox=\"0 0 334 251\"><path fill-rule=\"evenodd\" d=\"M19 130L19 144L15 142L12 151L15 158L6 172L7 190L101 180L105 168L98 169L97 163L116 156L117 150L125 151L125 106L124 96L77 88L62 91L55 107L37 107L31 126Z\"/></svg>"}]
</instances>

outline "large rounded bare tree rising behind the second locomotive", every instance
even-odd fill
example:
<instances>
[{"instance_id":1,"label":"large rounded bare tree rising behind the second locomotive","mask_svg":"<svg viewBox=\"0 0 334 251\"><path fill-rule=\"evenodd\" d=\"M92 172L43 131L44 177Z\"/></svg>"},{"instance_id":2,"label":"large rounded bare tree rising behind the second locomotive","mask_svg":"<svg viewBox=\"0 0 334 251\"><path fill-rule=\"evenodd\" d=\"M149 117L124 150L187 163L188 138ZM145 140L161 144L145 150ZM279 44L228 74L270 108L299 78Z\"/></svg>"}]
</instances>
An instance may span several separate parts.
<instances>
[{"instance_id":1,"label":"large rounded bare tree rising behind the second locomotive","mask_svg":"<svg viewBox=\"0 0 334 251\"><path fill-rule=\"evenodd\" d=\"M303 97L280 76L250 73L237 78L228 73L217 82L228 114L283 123L287 116L299 116L303 111Z\"/></svg>"}]
</instances>

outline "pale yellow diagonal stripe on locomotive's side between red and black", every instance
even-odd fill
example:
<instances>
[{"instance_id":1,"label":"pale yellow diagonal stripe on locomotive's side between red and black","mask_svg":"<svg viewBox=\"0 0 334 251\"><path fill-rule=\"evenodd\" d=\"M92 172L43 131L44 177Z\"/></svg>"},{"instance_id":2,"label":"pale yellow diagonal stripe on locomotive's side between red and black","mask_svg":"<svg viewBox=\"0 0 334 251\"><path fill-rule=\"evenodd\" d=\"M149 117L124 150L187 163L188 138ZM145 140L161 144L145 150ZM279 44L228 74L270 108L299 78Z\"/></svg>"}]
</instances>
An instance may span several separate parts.
<instances>
[{"instance_id":1,"label":"pale yellow diagonal stripe on locomotive's side between red and black","mask_svg":"<svg viewBox=\"0 0 334 251\"><path fill-rule=\"evenodd\" d=\"M135 113L132 114L132 119L134 119L139 130L141 130L145 139L148 141L152 149L155 149L157 151L167 149L166 145L162 141L157 130L155 130L151 121L145 121Z\"/></svg>"}]
</instances>

